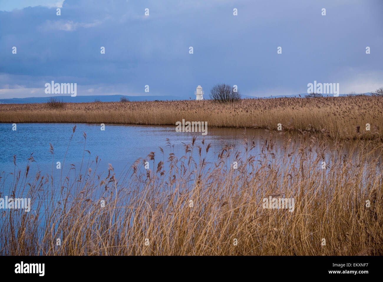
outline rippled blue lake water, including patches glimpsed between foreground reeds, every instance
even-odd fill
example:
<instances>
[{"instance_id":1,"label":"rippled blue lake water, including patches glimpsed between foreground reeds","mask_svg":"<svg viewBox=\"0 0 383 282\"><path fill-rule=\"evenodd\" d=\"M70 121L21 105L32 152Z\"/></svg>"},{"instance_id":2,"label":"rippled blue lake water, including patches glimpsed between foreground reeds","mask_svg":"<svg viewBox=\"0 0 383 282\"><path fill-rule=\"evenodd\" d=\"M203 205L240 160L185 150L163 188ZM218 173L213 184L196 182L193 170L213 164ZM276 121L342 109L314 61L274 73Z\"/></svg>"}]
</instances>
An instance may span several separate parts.
<instances>
[{"instance_id":1,"label":"rippled blue lake water, including patches glimpsed between foreground reeds","mask_svg":"<svg viewBox=\"0 0 383 282\"><path fill-rule=\"evenodd\" d=\"M72 135L72 128L76 125L75 133L70 141ZM222 151L225 145L234 145L235 149L229 158L227 166L232 166L234 155L237 150L239 158L241 158L244 150L244 137L247 138L249 144L254 141L254 148L249 152L255 157L255 160L261 158L262 148L271 146L273 149L269 153L275 156L279 160L285 160L285 158L278 158L278 155L284 155L287 153L294 158L305 158L304 152L298 153L300 137L297 132L278 132L273 130L262 129L234 129L234 128L208 128L207 135L201 135L198 132L176 132L174 126L147 126L147 125L105 125L105 131L100 130L99 124L65 124L65 123L20 123L17 124L17 130L12 130L12 124L0 124L0 195L10 196L11 191L15 186L18 187L16 195L18 197L25 197L25 193L28 193L28 186L26 183L33 183L36 173L40 172L41 176L45 179L51 180L51 176L54 179L54 193L57 197L60 197L60 185L61 179L65 182L65 177L70 172L70 180L73 179L73 172L75 175L85 175L87 167L92 168L92 172L100 175L101 179L105 179L108 175L109 164L113 166L113 172L116 179L124 179L131 172L127 171L131 169L131 165L141 158L146 159L149 162L149 168L155 170L157 163L164 161L164 170L167 171L167 160L169 153L174 153L178 160L185 155L185 144L190 144L193 136L196 136L195 144L201 145L201 141L205 139L205 148L208 143L211 144L211 148L206 156L207 166L214 167L214 161L218 159L218 153ZM86 140L84 139L83 132L86 134ZM272 135L272 142L270 139L265 146L265 139L270 138ZM286 140L291 138L291 142L286 146ZM169 145L169 141L170 144ZM320 138L311 139L309 135L306 135L306 141L315 140L314 143L318 145L321 141ZM70 142L70 145L69 145ZM50 152L50 145L54 149L54 155ZM333 142L326 140L326 145L331 152L336 153L336 148L332 147ZM312 159L316 157L315 146L310 143L309 147L312 149ZM295 147L292 149L291 147ZM160 151L160 147L164 151ZM203 150L205 150L205 148ZM323 148L323 147L322 147ZM290 154L295 150L296 153ZM325 153L326 161L329 160L329 150ZM90 153L86 152L89 151ZM265 153L266 150L264 150ZM286 152L288 151L288 152ZM345 150L339 152L338 157L345 156L347 153L347 145ZM353 154L356 154L358 150L355 150ZM147 157L149 153L155 153L155 167L152 160ZM33 153L33 159L35 162L29 163L28 178L23 179L25 176L26 165L28 164L28 158ZM66 155L66 157L65 157ZM190 153L188 153L190 155ZM206 152L203 153L206 155ZM14 157L16 159L16 167L14 164ZM98 164L96 168L95 160L98 156ZM64 162L65 157L65 162ZM198 162L198 150L195 148L193 151L193 157ZM248 156L249 157L249 156ZM337 158L337 157L336 157ZM381 163L381 156L378 156ZM246 158L245 158L246 159ZM61 169L56 168L56 162L61 162ZM93 163L92 163L93 162ZM139 170L145 172L143 160L141 160L141 167ZM300 162L295 162L298 166ZM72 166L74 165L74 166ZM291 163L284 164L283 161L280 165L291 165ZM320 163L318 169L320 169ZM70 171L74 168L75 170ZM80 172L80 167L82 168ZM314 166L315 167L315 166ZM248 167L251 170L251 167ZM293 169L298 169L295 167ZM21 171L21 177L18 184L15 185L15 175L18 175L18 171ZM379 170L381 171L381 169ZM250 173L250 171L249 171ZM280 172L280 177L283 177L283 170ZM40 181L40 180L39 180ZM45 181L45 180L44 180ZM71 182L72 183L72 182ZM21 185L20 185L21 184ZM27 189L23 189L26 187ZM43 186L45 187L45 186ZM20 189L24 191L24 194L20 194ZM45 188L44 188L45 189ZM44 190L42 189L42 190ZM70 188L72 189L72 188ZM49 188L48 188L49 190ZM46 195L47 190L44 190ZM97 193L97 192L95 192ZM38 201L32 203L32 209L36 208ZM42 223L41 223L42 224ZM1 226L0 226L1 227Z\"/></svg>"}]
</instances>

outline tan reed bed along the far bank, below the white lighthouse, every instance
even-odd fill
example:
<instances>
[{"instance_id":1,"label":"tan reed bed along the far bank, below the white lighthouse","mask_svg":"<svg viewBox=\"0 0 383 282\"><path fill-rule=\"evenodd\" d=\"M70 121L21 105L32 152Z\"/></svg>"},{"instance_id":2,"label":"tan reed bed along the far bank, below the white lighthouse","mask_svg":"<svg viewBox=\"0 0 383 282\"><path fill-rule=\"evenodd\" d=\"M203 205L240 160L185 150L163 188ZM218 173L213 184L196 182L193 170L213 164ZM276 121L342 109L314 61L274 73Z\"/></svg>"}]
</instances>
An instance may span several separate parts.
<instances>
[{"instance_id":1,"label":"tan reed bed along the far bank, below the white lighthouse","mask_svg":"<svg viewBox=\"0 0 383 282\"><path fill-rule=\"evenodd\" d=\"M148 101L0 105L0 122L85 122L175 125L207 121L208 126L306 130L336 139L383 140L383 97L243 99L234 104L213 101ZM366 130L370 124L370 130Z\"/></svg>"}]
</instances>

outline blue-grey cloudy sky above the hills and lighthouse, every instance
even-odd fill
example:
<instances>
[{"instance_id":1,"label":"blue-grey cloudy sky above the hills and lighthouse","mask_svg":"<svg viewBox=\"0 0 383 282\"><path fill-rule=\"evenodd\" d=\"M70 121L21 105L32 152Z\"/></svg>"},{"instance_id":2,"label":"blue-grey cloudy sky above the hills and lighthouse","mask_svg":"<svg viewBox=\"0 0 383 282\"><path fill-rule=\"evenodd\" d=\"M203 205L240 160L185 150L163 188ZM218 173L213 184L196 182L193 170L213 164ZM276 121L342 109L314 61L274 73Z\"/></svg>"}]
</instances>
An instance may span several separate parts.
<instances>
[{"instance_id":1,"label":"blue-grey cloudy sky above the hills and lighthouse","mask_svg":"<svg viewBox=\"0 0 383 282\"><path fill-rule=\"evenodd\" d=\"M77 96L370 92L383 87L382 12L382 0L0 0L0 99L52 96L51 81Z\"/></svg>"}]
</instances>

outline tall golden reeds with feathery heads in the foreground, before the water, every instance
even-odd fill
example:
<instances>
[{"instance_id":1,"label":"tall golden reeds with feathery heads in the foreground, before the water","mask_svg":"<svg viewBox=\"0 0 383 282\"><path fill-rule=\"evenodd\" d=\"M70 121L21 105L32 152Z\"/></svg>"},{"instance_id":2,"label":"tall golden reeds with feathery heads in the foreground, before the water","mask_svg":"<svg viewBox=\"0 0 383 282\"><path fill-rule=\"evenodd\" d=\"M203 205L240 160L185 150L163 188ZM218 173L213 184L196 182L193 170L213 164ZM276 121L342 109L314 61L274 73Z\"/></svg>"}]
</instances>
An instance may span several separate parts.
<instances>
[{"instance_id":1,"label":"tall golden reeds with feathery heads in the foreground, before the water","mask_svg":"<svg viewBox=\"0 0 383 282\"><path fill-rule=\"evenodd\" d=\"M97 174L97 158L85 165L85 144L80 170L71 165L61 179L28 175L31 156L9 191L0 182L2 196L33 203L29 213L0 211L0 254L382 255L382 144L348 141L345 150L311 132L285 134L283 153L270 133L259 154L244 137L243 148L227 145L215 158L201 137L184 156L168 140L169 155L148 152L119 176L112 165ZM294 211L263 208L270 195L295 198Z\"/></svg>"}]
</instances>

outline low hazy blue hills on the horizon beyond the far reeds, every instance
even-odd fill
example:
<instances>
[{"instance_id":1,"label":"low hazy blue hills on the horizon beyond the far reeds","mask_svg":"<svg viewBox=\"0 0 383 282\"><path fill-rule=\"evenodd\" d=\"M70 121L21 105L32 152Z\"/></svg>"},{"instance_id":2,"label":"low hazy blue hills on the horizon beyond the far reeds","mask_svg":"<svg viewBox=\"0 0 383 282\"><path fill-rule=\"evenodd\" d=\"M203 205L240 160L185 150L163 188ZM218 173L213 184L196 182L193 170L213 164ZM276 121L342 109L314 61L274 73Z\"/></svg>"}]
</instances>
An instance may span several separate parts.
<instances>
[{"instance_id":1,"label":"low hazy blue hills on the horizon beyond the far reeds","mask_svg":"<svg viewBox=\"0 0 383 282\"><path fill-rule=\"evenodd\" d=\"M295 95L278 95L278 96L267 96L267 97L255 97L255 96L248 96L248 95L241 95L242 98L249 98L249 99L258 99L258 98L282 98L282 97L299 97L301 95L302 98L304 98L307 93L301 93L301 94L295 94ZM363 93L363 94L340 94L339 96L347 96L347 95L371 95L371 92ZM324 94L324 96L327 96L327 94ZM328 95L333 96L333 95ZM183 97L179 96L124 96L124 95L90 95L90 96L76 96L76 97L70 97L70 96L54 96L60 101L64 102L72 102L72 103L86 103L86 102L94 102L95 100L101 101L101 102L118 102L120 101L121 97L127 97L129 101L171 101L171 100L188 100ZM208 97L207 97L208 98ZM28 98L11 98L11 99L0 99L0 104L28 104L28 103L46 103L48 101L49 97L28 97ZM195 99L193 99L195 100Z\"/></svg>"}]
</instances>

